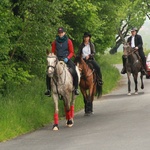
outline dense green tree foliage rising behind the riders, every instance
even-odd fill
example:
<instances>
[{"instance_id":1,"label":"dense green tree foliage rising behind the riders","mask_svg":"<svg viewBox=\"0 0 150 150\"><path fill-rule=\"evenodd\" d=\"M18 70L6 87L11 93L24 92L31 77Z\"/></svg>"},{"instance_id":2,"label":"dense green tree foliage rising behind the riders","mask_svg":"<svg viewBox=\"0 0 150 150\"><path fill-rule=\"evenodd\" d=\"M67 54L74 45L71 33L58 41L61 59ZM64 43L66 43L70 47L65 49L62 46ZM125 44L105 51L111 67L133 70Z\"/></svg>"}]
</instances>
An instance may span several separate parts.
<instances>
[{"instance_id":1,"label":"dense green tree foliage rising behind the riders","mask_svg":"<svg viewBox=\"0 0 150 150\"><path fill-rule=\"evenodd\" d=\"M63 26L77 49L89 31L98 53L115 44L124 24L140 27L147 1L2 0L0 3L0 93L11 85L44 77L46 49ZM132 14L132 15L131 15Z\"/></svg>"}]
</instances>

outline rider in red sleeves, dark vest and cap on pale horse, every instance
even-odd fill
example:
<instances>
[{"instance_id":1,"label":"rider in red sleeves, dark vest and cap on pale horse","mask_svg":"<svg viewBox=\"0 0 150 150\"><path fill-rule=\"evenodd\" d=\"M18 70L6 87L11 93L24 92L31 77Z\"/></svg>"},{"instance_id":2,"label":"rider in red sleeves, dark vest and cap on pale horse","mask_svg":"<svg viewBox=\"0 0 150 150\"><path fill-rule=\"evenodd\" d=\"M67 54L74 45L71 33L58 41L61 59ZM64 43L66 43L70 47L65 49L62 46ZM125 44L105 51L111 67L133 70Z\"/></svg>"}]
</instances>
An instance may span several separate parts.
<instances>
[{"instance_id":1,"label":"rider in red sleeves, dark vest and cap on pale horse","mask_svg":"<svg viewBox=\"0 0 150 150\"><path fill-rule=\"evenodd\" d=\"M58 28L58 35L55 41L52 43L52 53L55 53L59 60L63 60L69 68L73 76L73 85L75 87L75 95L79 95L78 91L78 75L75 69L75 64L71 60L74 56L74 48L72 41L67 37L65 29L63 27ZM50 78L46 77L47 91L45 95L51 96Z\"/></svg>"}]
</instances>

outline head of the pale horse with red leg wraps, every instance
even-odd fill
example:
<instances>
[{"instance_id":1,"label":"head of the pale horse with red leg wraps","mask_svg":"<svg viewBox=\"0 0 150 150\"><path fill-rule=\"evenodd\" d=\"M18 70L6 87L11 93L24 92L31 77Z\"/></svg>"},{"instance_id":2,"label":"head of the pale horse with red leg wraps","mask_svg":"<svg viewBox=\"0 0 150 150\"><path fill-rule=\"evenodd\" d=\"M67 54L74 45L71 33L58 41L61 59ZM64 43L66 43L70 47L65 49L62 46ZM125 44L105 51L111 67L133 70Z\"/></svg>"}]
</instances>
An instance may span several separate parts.
<instances>
[{"instance_id":1,"label":"head of the pale horse with red leg wraps","mask_svg":"<svg viewBox=\"0 0 150 150\"><path fill-rule=\"evenodd\" d=\"M49 77L53 77L56 65L58 63L58 58L54 53L49 53L47 55L47 74Z\"/></svg>"}]
</instances>

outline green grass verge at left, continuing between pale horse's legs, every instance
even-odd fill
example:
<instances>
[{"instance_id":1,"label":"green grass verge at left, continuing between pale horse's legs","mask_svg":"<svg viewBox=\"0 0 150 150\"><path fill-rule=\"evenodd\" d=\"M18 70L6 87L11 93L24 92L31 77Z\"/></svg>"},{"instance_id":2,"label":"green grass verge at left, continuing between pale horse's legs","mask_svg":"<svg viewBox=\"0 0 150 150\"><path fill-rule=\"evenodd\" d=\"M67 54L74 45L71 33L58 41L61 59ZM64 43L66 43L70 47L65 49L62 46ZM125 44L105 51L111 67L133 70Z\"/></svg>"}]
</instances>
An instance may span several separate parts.
<instances>
[{"instance_id":1,"label":"green grass verge at left, continuing between pale horse's legs","mask_svg":"<svg viewBox=\"0 0 150 150\"><path fill-rule=\"evenodd\" d=\"M34 80L30 85L14 88L0 100L0 141L36 130L53 122L54 103L44 95L45 82ZM83 108L81 94L75 111ZM59 101L59 118L64 117L63 101Z\"/></svg>"}]
</instances>

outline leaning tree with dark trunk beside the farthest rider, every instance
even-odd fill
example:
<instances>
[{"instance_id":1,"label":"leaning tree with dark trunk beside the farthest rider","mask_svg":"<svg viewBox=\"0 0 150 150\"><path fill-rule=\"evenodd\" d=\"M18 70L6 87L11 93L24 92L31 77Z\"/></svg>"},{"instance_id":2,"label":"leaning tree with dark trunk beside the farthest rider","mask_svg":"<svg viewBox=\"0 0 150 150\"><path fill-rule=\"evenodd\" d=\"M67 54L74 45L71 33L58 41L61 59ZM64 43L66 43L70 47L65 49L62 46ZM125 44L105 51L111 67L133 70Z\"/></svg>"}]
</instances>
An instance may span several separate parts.
<instances>
[{"instance_id":1,"label":"leaning tree with dark trunk beside the farthest rider","mask_svg":"<svg viewBox=\"0 0 150 150\"><path fill-rule=\"evenodd\" d=\"M112 46L110 53L114 54L117 52L118 47L122 44L120 34L125 39L129 34L132 27L140 27L143 25L146 15L145 15L145 3L142 0L129 1L128 7L126 9L126 16L120 20L120 25L117 29L116 43Z\"/></svg>"}]
</instances>

